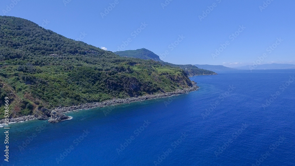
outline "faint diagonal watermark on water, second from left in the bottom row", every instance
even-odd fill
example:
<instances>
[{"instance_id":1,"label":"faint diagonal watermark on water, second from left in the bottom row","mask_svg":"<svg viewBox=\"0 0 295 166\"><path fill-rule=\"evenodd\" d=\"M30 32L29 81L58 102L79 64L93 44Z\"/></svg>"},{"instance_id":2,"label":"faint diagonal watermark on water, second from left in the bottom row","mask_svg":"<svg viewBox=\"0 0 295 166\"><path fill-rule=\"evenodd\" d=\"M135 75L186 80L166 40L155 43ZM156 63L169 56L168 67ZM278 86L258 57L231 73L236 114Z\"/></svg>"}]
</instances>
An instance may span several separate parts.
<instances>
[{"instance_id":1,"label":"faint diagonal watermark on water, second from left in the bottom row","mask_svg":"<svg viewBox=\"0 0 295 166\"><path fill-rule=\"evenodd\" d=\"M59 154L60 156L55 158L56 163L59 164L60 162L62 162L65 157L67 157L73 151L73 149L75 149L75 147L77 147L79 143L81 143L88 136L89 133L90 132L88 130L83 130L83 134L80 137L74 139L73 145L65 148L64 151Z\"/></svg>"}]
</instances>

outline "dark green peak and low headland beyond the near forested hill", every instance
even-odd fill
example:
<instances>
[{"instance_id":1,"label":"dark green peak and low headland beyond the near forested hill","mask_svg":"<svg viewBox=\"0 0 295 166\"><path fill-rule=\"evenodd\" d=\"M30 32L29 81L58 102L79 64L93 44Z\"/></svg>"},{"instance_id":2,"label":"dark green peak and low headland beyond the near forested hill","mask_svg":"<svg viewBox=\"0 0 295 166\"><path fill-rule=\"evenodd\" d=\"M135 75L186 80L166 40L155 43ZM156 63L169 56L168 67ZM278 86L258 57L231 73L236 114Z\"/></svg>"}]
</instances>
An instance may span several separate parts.
<instances>
[{"instance_id":1,"label":"dark green peak and low headland beyond the near forested hill","mask_svg":"<svg viewBox=\"0 0 295 166\"><path fill-rule=\"evenodd\" d=\"M151 60L159 61L163 65L181 68L186 72L186 74L189 77L192 77L195 75L216 75L217 74L213 71L199 69L194 65L175 65L172 63L164 62L163 60L160 60L160 57L158 55L156 55L152 51L147 50L145 48L138 49L138 50L117 51L114 53L121 56L121 57L134 57L134 58L139 58L139 59L151 59Z\"/></svg>"}]
</instances>

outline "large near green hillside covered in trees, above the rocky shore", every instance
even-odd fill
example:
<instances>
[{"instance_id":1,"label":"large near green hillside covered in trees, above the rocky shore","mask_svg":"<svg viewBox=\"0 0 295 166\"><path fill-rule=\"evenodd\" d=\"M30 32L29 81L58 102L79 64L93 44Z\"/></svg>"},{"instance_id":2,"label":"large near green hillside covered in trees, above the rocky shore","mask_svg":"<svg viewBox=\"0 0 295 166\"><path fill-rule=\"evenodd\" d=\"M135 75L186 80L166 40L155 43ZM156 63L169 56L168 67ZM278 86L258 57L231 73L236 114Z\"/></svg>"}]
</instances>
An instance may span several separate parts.
<instances>
[{"instance_id":1,"label":"large near green hillside covered in trees, above the rocky shore","mask_svg":"<svg viewBox=\"0 0 295 166\"><path fill-rule=\"evenodd\" d=\"M192 86L184 70L119 57L17 18L0 16L0 117L43 108L170 92Z\"/></svg>"}]
</instances>

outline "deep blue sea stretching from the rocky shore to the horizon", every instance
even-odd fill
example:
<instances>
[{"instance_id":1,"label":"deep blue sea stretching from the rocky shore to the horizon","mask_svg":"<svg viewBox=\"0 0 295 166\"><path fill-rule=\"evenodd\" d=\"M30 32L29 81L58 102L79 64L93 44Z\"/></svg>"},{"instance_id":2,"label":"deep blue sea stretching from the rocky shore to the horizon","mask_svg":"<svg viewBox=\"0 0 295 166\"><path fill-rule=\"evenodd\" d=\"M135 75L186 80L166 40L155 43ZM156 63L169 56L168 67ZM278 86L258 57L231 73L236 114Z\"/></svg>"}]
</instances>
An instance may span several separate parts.
<instances>
[{"instance_id":1,"label":"deep blue sea stretching from the rocky shore to the horizon","mask_svg":"<svg viewBox=\"0 0 295 166\"><path fill-rule=\"evenodd\" d=\"M199 91L177 97L72 112L72 120L57 124L11 124L9 164L3 166L294 166L295 81L289 80L295 70L218 73L192 77Z\"/></svg>"}]
</instances>

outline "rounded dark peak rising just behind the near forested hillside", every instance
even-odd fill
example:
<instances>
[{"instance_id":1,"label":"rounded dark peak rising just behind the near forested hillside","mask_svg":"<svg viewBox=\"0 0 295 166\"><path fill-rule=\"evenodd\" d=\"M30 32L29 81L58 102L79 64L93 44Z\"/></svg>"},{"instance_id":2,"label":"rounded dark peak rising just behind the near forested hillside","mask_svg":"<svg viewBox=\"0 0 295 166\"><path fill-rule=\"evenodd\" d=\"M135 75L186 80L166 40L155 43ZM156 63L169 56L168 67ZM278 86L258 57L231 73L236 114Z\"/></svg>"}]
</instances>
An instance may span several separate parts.
<instances>
[{"instance_id":1,"label":"rounded dark peak rising just behind the near forested hillside","mask_svg":"<svg viewBox=\"0 0 295 166\"><path fill-rule=\"evenodd\" d=\"M151 60L163 62L162 60L160 60L160 57L158 55L156 55L155 53L145 48L137 49L137 50L117 51L114 53L119 55L120 57L135 57L139 59L151 59Z\"/></svg>"}]
</instances>

